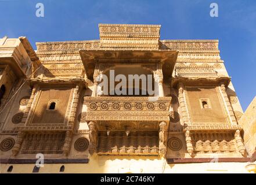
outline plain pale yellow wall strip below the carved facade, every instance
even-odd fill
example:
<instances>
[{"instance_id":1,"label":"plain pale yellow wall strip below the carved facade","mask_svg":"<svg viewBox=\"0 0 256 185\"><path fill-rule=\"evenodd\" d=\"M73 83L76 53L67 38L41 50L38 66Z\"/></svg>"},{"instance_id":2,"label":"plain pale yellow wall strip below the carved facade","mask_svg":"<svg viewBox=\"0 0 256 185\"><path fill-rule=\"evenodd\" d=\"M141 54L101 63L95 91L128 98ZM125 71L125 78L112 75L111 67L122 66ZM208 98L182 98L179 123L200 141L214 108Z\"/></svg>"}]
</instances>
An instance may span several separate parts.
<instances>
[{"instance_id":1,"label":"plain pale yellow wall strip below the carved facade","mask_svg":"<svg viewBox=\"0 0 256 185\"><path fill-rule=\"evenodd\" d=\"M1 164L1 173L13 165L12 173L31 173L35 164ZM45 164L39 173L248 173L247 162L167 164L156 157L93 156L88 164ZM62 172L63 173L63 172Z\"/></svg>"}]
</instances>

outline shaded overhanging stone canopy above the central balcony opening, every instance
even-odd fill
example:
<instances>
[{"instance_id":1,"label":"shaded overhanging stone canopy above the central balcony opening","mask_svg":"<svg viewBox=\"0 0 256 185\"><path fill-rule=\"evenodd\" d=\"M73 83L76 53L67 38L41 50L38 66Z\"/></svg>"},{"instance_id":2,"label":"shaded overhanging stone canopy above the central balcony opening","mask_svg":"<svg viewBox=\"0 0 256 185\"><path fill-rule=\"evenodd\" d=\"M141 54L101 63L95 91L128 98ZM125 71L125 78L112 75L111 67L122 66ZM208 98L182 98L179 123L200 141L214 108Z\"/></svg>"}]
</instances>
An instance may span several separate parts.
<instances>
[{"instance_id":1,"label":"shaded overhanging stone canopy above the central balcony opening","mask_svg":"<svg viewBox=\"0 0 256 185\"><path fill-rule=\"evenodd\" d=\"M164 78L171 77L178 50L80 50L88 79L93 80L95 66L102 64L161 64Z\"/></svg>"}]
</instances>

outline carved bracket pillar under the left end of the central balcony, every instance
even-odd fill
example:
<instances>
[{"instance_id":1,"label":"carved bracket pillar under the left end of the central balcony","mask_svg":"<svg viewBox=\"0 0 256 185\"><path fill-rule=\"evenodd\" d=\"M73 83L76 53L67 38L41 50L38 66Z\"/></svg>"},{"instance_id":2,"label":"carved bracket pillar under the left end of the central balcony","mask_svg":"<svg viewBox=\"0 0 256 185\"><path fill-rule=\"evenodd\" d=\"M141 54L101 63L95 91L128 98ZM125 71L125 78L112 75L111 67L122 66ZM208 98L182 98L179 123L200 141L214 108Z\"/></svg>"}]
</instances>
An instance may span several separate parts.
<instances>
[{"instance_id":1,"label":"carved bracket pillar under the left end of the central balcony","mask_svg":"<svg viewBox=\"0 0 256 185\"><path fill-rule=\"evenodd\" d=\"M98 133L96 123L94 121L90 121L88 124L89 127L89 153L93 155L97 151L97 140L98 140Z\"/></svg>"}]
</instances>

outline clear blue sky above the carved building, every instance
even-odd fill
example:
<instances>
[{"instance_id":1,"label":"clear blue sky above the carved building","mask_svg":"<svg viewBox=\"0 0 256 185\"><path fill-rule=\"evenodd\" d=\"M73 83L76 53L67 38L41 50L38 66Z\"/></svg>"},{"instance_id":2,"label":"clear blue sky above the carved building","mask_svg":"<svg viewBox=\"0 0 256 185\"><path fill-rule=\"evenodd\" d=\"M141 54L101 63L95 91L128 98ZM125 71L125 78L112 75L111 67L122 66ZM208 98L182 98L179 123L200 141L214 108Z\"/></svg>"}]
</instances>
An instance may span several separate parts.
<instances>
[{"instance_id":1,"label":"clear blue sky above the carved building","mask_svg":"<svg viewBox=\"0 0 256 185\"><path fill-rule=\"evenodd\" d=\"M35 5L44 4L45 17ZM219 17L210 17L218 3ZM161 39L219 39L243 110L256 95L256 1L0 0L0 37L35 42L99 39L99 23L161 24Z\"/></svg>"}]
</instances>

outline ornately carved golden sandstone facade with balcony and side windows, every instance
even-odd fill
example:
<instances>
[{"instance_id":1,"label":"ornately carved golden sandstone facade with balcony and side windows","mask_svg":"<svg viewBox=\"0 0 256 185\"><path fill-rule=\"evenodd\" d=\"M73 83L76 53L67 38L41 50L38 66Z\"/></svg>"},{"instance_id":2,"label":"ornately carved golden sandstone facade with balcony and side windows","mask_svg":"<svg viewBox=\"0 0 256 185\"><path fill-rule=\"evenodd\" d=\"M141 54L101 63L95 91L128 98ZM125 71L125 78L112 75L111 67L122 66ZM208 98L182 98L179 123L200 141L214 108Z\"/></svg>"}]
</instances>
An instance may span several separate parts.
<instances>
[{"instance_id":1,"label":"ornately carved golden sandstone facade with balcony and side windows","mask_svg":"<svg viewBox=\"0 0 256 185\"><path fill-rule=\"evenodd\" d=\"M0 40L3 163L37 153L50 163L251 160L218 40L160 40L160 25L99 24L99 33L99 40L37 43L37 51L24 37ZM156 94L102 95L110 70L153 75Z\"/></svg>"}]
</instances>

